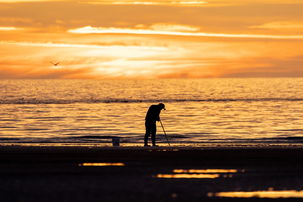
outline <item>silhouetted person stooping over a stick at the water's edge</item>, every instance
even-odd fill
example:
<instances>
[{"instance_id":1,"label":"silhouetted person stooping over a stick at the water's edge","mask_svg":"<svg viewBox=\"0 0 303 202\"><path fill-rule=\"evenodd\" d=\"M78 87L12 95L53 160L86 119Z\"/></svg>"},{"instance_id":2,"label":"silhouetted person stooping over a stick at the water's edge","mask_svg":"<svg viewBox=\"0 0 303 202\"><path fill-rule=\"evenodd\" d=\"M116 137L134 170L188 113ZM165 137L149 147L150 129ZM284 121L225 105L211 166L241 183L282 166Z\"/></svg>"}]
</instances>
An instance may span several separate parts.
<instances>
[{"instance_id":1,"label":"silhouetted person stooping over a stick at the water's edge","mask_svg":"<svg viewBox=\"0 0 303 202\"><path fill-rule=\"evenodd\" d=\"M146 117L145 117L145 136L144 136L144 146L150 146L147 144L148 137L151 135L152 146L156 147L156 121L160 121L160 112L161 110L165 110L165 105L163 103L153 104L149 107Z\"/></svg>"}]
</instances>

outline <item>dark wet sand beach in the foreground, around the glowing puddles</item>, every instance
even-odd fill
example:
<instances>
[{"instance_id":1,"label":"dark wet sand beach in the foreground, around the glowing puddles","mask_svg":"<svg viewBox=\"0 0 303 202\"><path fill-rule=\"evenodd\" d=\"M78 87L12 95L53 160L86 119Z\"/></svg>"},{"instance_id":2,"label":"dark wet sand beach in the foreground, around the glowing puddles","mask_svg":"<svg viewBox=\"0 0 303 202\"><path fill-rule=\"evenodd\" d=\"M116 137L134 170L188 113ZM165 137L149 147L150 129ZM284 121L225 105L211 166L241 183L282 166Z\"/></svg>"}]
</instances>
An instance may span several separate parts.
<instances>
[{"instance_id":1,"label":"dark wet sand beach in the foreground, around the glowing puddles","mask_svg":"<svg viewBox=\"0 0 303 202\"><path fill-rule=\"evenodd\" d=\"M303 190L302 160L302 147L0 146L0 201L302 201L215 196ZM214 179L157 177L175 169L238 172Z\"/></svg>"}]
</instances>

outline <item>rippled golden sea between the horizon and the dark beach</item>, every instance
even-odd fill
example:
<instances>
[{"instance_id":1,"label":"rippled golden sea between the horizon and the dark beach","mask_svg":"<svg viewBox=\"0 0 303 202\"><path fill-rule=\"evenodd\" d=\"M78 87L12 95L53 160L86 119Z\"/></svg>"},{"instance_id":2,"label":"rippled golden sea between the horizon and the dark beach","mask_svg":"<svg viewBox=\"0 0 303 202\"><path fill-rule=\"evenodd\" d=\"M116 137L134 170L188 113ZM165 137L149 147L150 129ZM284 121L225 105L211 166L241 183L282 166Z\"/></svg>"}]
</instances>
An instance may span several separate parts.
<instances>
[{"instance_id":1,"label":"rippled golden sea between the horizon and the dark beach","mask_svg":"<svg viewBox=\"0 0 303 202\"><path fill-rule=\"evenodd\" d=\"M303 78L0 80L0 145L303 146ZM150 140L149 140L150 141Z\"/></svg>"}]
</instances>

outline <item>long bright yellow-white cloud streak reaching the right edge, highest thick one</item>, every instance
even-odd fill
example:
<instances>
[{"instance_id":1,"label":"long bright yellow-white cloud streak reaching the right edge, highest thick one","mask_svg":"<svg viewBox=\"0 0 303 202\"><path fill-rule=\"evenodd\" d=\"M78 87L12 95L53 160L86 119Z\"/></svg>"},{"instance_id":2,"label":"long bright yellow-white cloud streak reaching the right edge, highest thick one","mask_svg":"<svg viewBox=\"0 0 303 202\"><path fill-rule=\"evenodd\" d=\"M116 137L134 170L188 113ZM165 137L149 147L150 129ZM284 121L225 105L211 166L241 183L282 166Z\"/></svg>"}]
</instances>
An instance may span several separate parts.
<instances>
[{"instance_id":1,"label":"long bright yellow-white cloud streak reaching the right edge, highest thick one","mask_svg":"<svg viewBox=\"0 0 303 202\"><path fill-rule=\"evenodd\" d=\"M258 35L258 34L224 34L224 33L205 33L205 32L181 32L181 31L162 31L152 29L132 29L132 28L106 28L86 26L68 30L75 34L141 34L141 35L178 35L178 36L203 36L203 37L228 37L228 38L272 38L272 39L303 39L303 35Z\"/></svg>"}]
</instances>

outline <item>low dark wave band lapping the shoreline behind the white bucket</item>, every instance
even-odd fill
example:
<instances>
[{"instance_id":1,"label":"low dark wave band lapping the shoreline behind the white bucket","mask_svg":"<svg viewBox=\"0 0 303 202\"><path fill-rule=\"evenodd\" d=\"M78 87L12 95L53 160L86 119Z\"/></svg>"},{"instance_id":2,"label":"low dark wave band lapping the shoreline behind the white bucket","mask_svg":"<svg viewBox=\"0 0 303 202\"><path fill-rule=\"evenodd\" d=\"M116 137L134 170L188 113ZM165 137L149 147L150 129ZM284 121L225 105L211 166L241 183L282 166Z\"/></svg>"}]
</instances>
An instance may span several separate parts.
<instances>
[{"instance_id":1,"label":"low dark wave band lapping the shoreline behind the white bucket","mask_svg":"<svg viewBox=\"0 0 303 202\"><path fill-rule=\"evenodd\" d=\"M52 144L85 144L95 143L101 144L105 142L111 142L112 138L120 138L120 143L143 143L144 135L140 137L135 136L118 136L118 135L80 135L70 137L52 137L52 138L37 138L37 137L26 137L26 138L14 138L14 137L2 137L0 138L1 143L12 143L12 144L23 144L23 143L52 143ZM159 134L156 136L158 143L166 143L166 137L170 143L173 144L251 144L260 145L266 144L271 145L301 145L303 144L303 137L271 137L271 138L199 138L197 136L190 135L167 135ZM1 145L1 144L0 144ZM125 145L127 146L127 145Z\"/></svg>"}]
</instances>

